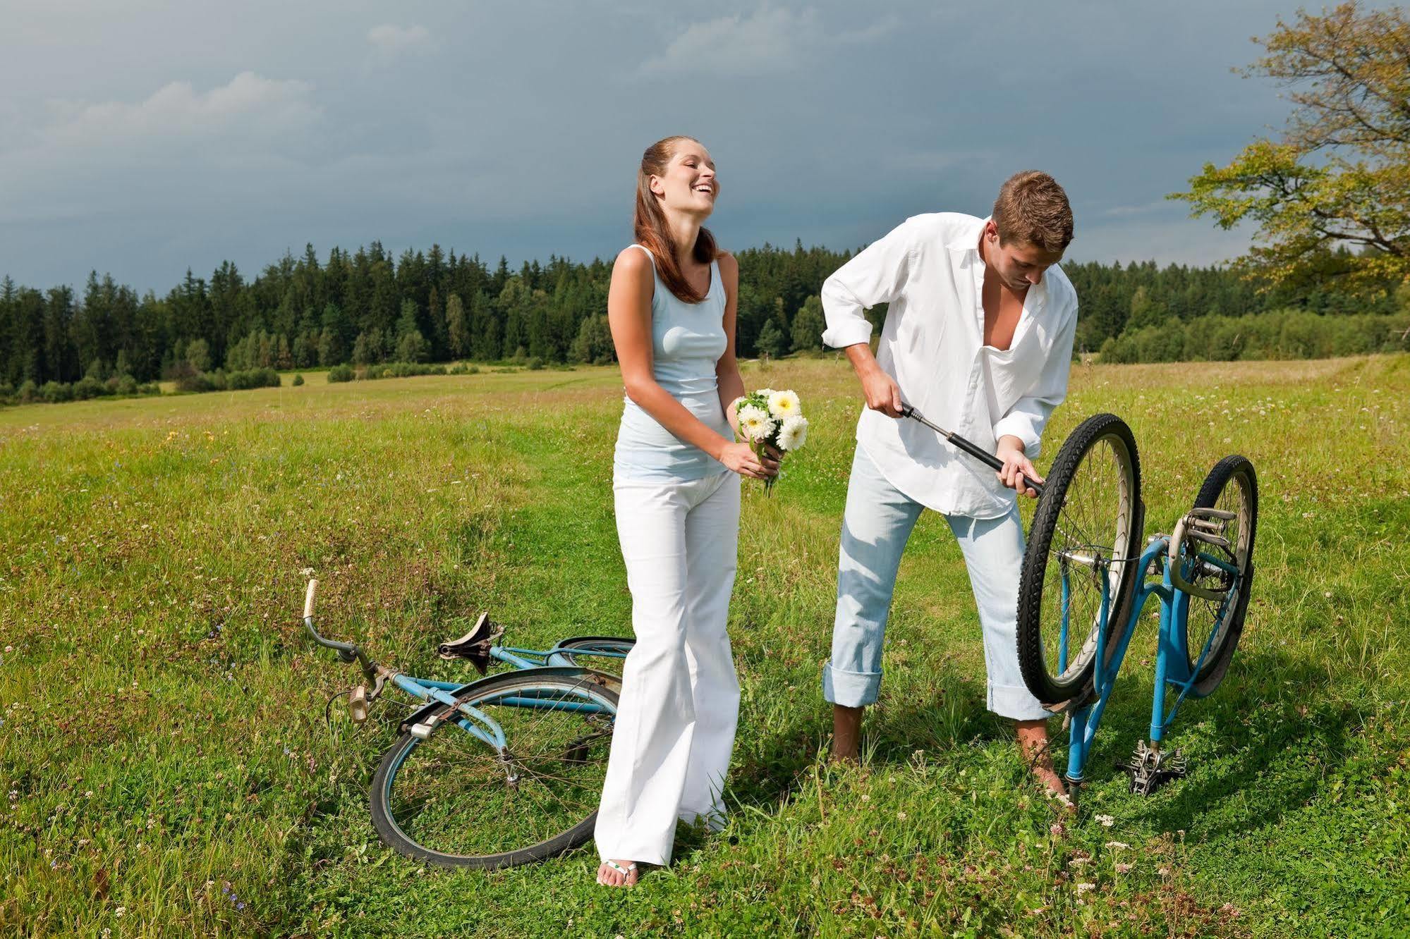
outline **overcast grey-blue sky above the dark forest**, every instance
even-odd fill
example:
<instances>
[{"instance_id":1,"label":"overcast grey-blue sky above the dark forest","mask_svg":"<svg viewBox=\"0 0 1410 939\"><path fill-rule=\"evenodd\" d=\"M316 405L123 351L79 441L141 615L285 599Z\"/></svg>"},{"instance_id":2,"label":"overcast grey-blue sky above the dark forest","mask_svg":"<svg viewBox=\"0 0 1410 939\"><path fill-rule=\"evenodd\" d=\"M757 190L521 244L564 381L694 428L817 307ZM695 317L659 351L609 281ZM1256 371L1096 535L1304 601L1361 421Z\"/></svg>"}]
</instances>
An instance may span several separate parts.
<instances>
[{"instance_id":1,"label":"overcast grey-blue sky above the dark forest","mask_svg":"<svg viewBox=\"0 0 1410 939\"><path fill-rule=\"evenodd\" d=\"M516 264L630 241L647 144L691 134L726 248L871 241L1067 189L1076 259L1210 264L1165 200L1282 127L1251 62L1290 3L368 4L0 0L0 274L165 292L285 250Z\"/></svg>"}]
</instances>

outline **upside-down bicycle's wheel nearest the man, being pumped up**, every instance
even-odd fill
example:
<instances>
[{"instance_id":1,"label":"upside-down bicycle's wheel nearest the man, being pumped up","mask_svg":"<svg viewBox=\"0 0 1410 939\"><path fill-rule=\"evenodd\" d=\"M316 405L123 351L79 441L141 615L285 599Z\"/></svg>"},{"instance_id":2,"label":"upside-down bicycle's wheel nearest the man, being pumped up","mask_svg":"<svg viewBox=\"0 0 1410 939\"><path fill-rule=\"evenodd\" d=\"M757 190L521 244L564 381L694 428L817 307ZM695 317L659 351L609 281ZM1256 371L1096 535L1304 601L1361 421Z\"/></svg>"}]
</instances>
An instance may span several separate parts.
<instances>
[{"instance_id":1,"label":"upside-down bicycle's wheel nearest the man, being pumped up","mask_svg":"<svg viewBox=\"0 0 1410 939\"><path fill-rule=\"evenodd\" d=\"M1128 616L1141 556L1141 464L1115 415L1063 443L1043 482L1018 589L1018 664L1045 705L1084 699L1097 636L1107 650Z\"/></svg>"}]
</instances>

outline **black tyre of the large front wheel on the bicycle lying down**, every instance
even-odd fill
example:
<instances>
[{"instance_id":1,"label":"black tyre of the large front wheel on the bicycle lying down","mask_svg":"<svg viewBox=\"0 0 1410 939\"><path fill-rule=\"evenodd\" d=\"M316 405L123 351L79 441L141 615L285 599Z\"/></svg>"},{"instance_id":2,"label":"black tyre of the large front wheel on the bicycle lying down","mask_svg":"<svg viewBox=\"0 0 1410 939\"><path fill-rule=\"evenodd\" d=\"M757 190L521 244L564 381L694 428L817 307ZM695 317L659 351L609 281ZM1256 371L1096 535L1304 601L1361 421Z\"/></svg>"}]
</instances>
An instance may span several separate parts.
<instances>
[{"instance_id":1,"label":"black tyre of the large front wheel on the bicycle lying down","mask_svg":"<svg viewBox=\"0 0 1410 939\"><path fill-rule=\"evenodd\" d=\"M560 757L561 763L565 766L574 763L581 766L592 763L595 766L599 763L602 774L605 774L606 754L611 750L612 743L611 726L616 715L618 695L611 688L603 687L599 681L592 680L588 673L570 667L509 671L481 678L479 681L465 685L464 688L457 689L454 696L457 701L470 704L482 711L495 708L495 716L496 719L501 719L506 716L506 711L503 711L503 708L516 706L506 705L502 701L496 704L496 699L512 699L512 694L522 695L523 692L530 691L561 694L603 706L608 716L606 730L605 733L598 735L601 737L596 740L599 746L595 747L601 753L601 760L589 761L587 759L575 759L572 754L577 750L570 750L568 753L560 754ZM516 709L525 712L548 711L546 708ZM378 764L376 774L372 777L371 791L372 825L388 846L400 854L440 867L495 869L516 867L520 864L541 861L548 857L557 857L558 854L572 850L592 837L592 828L598 815L596 801L601 798L602 791L601 775L595 771L589 771L581 780L582 785L578 785L577 788L581 790L582 795L574 804L563 802L557 795L550 792L550 797L563 805L565 818L571 819L571 823L567 823L564 828L548 832L546 836L541 836L543 833L533 833L516 837L513 835L495 836L488 833L489 829L486 826L503 823L503 816L506 815L505 804L512 804L520 790L519 785L513 782L506 781L503 785L498 784L498 774L503 774L505 770L495 749L471 736L454 720L444 719L446 715L453 712L454 708L450 705L446 705L441 711L436 712L443 719L434 723L426 740L416 737L409 730L403 733L382 756L382 761ZM540 719L539 723L541 725L543 720ZM446 736L451 733L460 736ZM505 736L509 753L513 754L516 760L523 759L522 754L515 753L515 737L508 726L505 729ZM492 773L486 773L484 775L482 781L485 785L479 787L475 792L467 791L464 795L460 795L454 805L440 805L440 802L448 802L450 799L455 799L458 795L453 787L446 785L441 781L450 777L450 770L446 768L448 764L437 767L434 763L436 756L429 756L423 760L429 766L426 768L417 767L415 777L407 771L407 764L412 757L416 756L416 751L423 747L429 750L431 742L437 740L441 744L441 750L454 750L464 754L464 759L460 761L461 766L470 766L470 760L474 760L474 767L494 767ZM525 740L520 740L520 743L526 744ZM565 744L557 746L571 747L577 743L577 740L570 740ZM520 770L526 775L520 777L519 782L525 782L525 780L527 780L530 785L537 782L543 787L541 774L530 773L525 767L520 767ZM467 771L467 775L472 774L474 770ZM429 780L434 782L434 785L427 785L423 780ZM399 782L400 787L398 785ZM417 784L426 787L430 797L422 802L420 809L407 811L409 806L417 804L419 794L415 791ZM529 785L525 787L525 791L527 790ZM450 795L447 795L447 792ZM501 801L501 805L498 806L492 805L495 797ZM526 795L523 801L527 804L532 801L532 797ZM460 832L453 830L439 833L436 845L424 843L429 839L420 832L420 826L417 826L416 832L406 830L407 828L412 828L413 821L420 821L423 815L429 815L429 806L431 805L436 806L439 819L443 825L450 825L453 828L460 826L461 829ZM584 811L587 806L591 808L587 808L587 811L584 811L580 816L574 811L575 806L582 806L578 811ZM530 805L526 805L526 808L533 809ZM525 811L519 812L520 819L525 818ZM529 811L527 816L537 818L537 809ZM557 822L546 821L544 823L548 825L548 828L557 828ZM441 843L455 840L457 837L468 842L477 835L489 843L496 845L496 849L455 850L447 843ZM517 840L525 840L525 843L516 843Z\"/></svg>"}]
</instances>

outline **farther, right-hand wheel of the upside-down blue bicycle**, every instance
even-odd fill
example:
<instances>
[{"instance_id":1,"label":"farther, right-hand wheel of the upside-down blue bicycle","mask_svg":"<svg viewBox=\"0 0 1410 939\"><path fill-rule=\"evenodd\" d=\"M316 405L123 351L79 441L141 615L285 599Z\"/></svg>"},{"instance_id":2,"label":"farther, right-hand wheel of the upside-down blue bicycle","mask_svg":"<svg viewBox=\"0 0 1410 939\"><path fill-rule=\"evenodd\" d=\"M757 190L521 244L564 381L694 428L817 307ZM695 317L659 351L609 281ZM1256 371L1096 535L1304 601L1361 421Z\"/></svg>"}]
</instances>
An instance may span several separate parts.
<instances>
[{"instance_id":1,"label":"farther, right-hand wheel of the upside-down blue bicycle","mask_svg":"<svg viewBox=\"0 0 1410 939\"><path fill-rule=\"evenodd\" d=\"M1194 498L1194 508L1234 513L1222 533L1230 547L1194 543L1204 563L1187 563L1187 581L1222 595L1217 601L1189 595L1184 646L1190 674L1194 675L1190 694L1203 698L1224 681L1239 636L1244 634L1244 616L1253 582L1253 536L1258 533L1258 475L1253 464L1239 455L1220 460L1204 478L1204 485ZM1238 577L1228 568L1237 570ZM1208 651L1201 663L1200 654L1206 646Z\"/></svg>"}]
</instances>

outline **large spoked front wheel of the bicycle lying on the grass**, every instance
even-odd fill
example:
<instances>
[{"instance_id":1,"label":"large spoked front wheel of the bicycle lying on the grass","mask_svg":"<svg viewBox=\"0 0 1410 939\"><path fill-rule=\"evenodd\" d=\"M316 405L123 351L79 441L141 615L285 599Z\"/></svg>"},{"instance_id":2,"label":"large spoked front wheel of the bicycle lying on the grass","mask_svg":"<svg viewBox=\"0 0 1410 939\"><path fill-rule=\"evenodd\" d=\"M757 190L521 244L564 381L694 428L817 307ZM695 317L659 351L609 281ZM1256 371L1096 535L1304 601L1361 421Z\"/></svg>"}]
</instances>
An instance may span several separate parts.
<instances>
[{"instance_id":1,"label":"large spoked front wheel of the bicycle lying on the grass","mask_svg":"<svg viewBox=\"0 0 1410 939\"><path fill-rule=\"evenodd\" d=\"M557 674L546 674L546 673ZM618 696L571 670L530 668L454 692L503 730L505 749L446 705L407 730L372 778L372 823L393 849L444 867L512 867L592 837Z\"/></svg>"}]
</instances>

